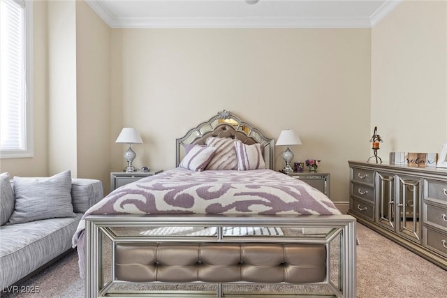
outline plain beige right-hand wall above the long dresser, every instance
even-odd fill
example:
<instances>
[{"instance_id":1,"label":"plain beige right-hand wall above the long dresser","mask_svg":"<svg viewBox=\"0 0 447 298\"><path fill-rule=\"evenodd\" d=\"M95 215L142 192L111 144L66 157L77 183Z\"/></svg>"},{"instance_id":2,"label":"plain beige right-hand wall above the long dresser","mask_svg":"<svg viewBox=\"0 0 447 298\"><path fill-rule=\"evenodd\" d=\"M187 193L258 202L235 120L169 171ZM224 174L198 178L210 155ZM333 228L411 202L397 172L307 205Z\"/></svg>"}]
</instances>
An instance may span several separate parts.
<instances>
[{"instance_id":1,"label":"plain beige right-hand wall above the long dresser","mask_svg":"<svg viewBox=\"0 0 447 298\"><path fill-rule=\"evenodd\" d=\"M404 1L372 29L371 133L387 161L447 141L446 14L446 1Z\"/></svg>"}]
</instances>

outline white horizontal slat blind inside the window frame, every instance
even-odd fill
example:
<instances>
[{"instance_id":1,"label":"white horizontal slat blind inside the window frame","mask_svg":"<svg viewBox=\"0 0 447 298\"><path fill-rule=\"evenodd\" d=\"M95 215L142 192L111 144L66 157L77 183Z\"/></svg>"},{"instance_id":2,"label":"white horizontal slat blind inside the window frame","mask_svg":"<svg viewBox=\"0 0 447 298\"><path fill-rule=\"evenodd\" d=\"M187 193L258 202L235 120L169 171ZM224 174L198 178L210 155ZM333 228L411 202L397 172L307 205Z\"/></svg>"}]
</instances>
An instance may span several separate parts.
<instances>
[{"instance_id":1,"label":"white horizontal slat blind inside the window frame","mask_svg":"<svg viewBox=\"0 0 447 298\"><path fill-rule=\"evenodd\" d=\"M24 1L0 1L0 149L26 150Z\"/></svg>"}]
</instances>

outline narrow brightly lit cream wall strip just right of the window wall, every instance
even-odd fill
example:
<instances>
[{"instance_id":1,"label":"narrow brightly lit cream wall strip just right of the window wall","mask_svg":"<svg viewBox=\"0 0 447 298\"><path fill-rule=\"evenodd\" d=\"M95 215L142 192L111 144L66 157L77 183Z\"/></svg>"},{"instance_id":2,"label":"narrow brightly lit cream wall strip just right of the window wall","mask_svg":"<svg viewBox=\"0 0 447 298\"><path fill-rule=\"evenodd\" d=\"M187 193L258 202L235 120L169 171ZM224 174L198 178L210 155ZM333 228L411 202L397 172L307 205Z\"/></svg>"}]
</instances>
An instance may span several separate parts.
<instances>
[{"instance_id":1,"label":"narrow brightly lit cream wall strip just right of the window wall","mask_svg":"<svg viewBox=\"0 0 447 298\"><path fill-rule=\"evenodd\" d=\"M75 1L47 2L48 174L78 176Z\"/></svg>"}]
</instances>

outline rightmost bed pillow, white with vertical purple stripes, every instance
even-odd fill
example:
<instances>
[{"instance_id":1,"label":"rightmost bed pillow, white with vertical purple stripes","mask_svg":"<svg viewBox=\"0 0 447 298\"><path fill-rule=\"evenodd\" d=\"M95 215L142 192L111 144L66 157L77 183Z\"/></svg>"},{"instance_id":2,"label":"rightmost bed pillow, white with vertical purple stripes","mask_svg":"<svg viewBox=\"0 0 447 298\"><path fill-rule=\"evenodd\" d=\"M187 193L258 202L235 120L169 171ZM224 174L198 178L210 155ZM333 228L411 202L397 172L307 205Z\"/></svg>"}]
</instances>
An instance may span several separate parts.
<instances>
[{"instance_id":1,"label":"rightmost bed pillow, white with vertical purple stripes","mask_svg":"<svg viewBox=\"0 0 447 298\"><path fill-rule=\"evenodd\" d=\"M261 144L247 145L241 141L235 141L237 155L237 170L265 169Z\"/></svg>"}]
</instances>

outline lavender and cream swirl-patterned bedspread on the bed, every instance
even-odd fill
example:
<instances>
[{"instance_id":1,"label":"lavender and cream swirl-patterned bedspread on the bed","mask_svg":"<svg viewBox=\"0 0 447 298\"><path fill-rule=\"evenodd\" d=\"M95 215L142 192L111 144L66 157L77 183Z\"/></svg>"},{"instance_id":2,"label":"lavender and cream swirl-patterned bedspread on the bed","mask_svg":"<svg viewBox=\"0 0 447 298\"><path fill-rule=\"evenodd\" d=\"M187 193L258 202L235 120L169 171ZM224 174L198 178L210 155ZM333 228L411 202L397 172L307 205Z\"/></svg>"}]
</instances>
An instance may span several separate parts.
<instances>
[{"instance_id":1,"label":"lavender and cream swirl-patterned bedspread on the bed","mask_svg":"<svg viewBox=\"0 0 447 298\"><path fill-rule=\"evenodd\" d=\"M342 213L312 186L273 170L193 172L178 167L117 188L87 210L73 248L83 248L85 217L90 214Z\"/></svg>"}]
</instances>

